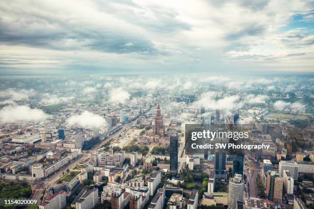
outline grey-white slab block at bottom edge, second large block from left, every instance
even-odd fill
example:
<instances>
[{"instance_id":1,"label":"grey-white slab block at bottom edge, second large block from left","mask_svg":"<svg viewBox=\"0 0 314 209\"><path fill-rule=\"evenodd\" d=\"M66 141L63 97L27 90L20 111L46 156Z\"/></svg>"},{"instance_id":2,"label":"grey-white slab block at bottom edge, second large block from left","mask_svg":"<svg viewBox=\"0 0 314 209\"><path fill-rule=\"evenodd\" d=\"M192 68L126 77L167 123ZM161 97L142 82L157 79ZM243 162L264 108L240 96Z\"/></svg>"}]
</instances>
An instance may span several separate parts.
<instances>
[{"instance_id":1,"label":"grey-white slab block at bottom edge, second large block from left","mask_svg":"<svg viewBox=\"0 0 314 209\"><path fill-rule=\"evenodd\" d=\"M91 209L98 204L98 189L86 190L85 193L75 202L75 209Z\"/></svg>"}]
</instances>

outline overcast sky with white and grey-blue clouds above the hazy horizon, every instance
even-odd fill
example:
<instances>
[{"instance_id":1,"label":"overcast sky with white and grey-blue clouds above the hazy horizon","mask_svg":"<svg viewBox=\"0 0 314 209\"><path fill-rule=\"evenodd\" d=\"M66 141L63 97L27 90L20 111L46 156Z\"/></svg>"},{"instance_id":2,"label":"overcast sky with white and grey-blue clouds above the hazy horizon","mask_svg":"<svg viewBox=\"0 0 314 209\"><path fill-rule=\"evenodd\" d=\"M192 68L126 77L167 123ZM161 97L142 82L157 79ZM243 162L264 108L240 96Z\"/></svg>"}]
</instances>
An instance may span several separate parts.
<instances>
[{"instance_id":1,"label":"overcast sky with white and grey-blue clouds above the hazy horizon","mask_svg":"<svg viewBox=\"0 0 314 209\"><path fill-rule=\"evenodd\" d=\"M0 1L0 75L313 72L314 1Z\"/></svg>"}]
</instances>

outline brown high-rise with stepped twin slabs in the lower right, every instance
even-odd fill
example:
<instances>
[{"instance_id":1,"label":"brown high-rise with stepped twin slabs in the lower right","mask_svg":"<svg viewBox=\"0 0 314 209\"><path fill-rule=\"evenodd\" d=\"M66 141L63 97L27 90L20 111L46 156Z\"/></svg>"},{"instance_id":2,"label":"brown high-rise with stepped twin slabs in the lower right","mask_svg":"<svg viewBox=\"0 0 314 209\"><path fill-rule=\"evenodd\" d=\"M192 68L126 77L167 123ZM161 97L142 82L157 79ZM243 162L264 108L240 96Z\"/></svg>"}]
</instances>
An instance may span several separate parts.
<instances>
[{"instance_id":1,"label":"brown high-rise with stepped twin slabs in the lower right","mask_svg":"<svg viewBox=\"0 0 314 209\"><path fill-rule=\"evenodd\" d=\"M283 178L280 177L275 171L268 171L267 181L268 199L277 203L281 203Z\"/></svg>"}]
</instances>

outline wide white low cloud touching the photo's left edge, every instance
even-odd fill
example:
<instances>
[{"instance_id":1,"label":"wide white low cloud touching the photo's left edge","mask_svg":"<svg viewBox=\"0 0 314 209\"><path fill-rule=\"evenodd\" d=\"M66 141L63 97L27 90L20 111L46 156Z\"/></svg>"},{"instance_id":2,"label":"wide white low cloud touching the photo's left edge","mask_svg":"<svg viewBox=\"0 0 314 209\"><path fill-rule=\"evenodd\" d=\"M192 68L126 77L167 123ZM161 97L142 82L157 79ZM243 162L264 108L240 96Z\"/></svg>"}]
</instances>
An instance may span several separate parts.
<instances>
[{"instance_id":1,"label":"wide white low cloud touching the photo's left edge","mask_svg":"<svg viewBox=\"0 0 314 209\"><path fill-rule=\"evenodd\" d=\"M0 110L0 121L11 123L19 121L38 121L48 118L40 109L31 109L28 106L6 106Z\"/></svg>"}]
</instances>

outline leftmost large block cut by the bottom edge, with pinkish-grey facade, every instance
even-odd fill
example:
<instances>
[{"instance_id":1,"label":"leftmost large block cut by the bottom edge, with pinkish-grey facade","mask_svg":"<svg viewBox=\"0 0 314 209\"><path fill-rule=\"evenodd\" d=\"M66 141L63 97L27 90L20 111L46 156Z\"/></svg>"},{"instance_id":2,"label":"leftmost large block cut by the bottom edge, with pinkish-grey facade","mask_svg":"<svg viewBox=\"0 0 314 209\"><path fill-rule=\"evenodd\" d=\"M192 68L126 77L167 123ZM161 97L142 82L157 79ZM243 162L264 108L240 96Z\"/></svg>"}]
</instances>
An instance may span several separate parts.
<instances>
[{"instance_id":1,"label":"leftmost large block cut by the bottom edge, with pinkish-grey facade","mask_svg":"<svg viewBox=\"0 0 314 209\"><path fill-rule=\"evenodd\" d=\"M45 198L40 204L40 209L62 209L67 205L66 192L61 191Z\"/></svg>"}]
</instances>

